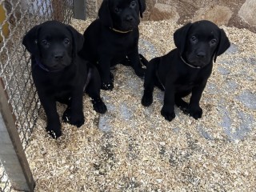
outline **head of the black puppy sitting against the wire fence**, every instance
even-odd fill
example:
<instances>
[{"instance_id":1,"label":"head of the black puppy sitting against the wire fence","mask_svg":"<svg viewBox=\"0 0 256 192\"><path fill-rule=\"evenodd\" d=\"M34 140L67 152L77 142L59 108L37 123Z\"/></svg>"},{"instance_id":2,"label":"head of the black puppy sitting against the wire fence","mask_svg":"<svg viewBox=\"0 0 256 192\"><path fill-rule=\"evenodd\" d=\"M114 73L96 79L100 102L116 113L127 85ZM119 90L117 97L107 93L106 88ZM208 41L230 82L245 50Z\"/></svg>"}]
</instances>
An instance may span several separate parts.
<instances>
[{"instance_id":1,"label":"head of the black puppy sitting against the wire fence","mask_svg":"<svg viewBox=\"0 0 256 192\"><path fill-rule=\"evenodd\" d=\"M83 37L72 26L49 21L29 30L22 44L47 70L56 71L72 64Z\"/></svg>"}]
</instances>

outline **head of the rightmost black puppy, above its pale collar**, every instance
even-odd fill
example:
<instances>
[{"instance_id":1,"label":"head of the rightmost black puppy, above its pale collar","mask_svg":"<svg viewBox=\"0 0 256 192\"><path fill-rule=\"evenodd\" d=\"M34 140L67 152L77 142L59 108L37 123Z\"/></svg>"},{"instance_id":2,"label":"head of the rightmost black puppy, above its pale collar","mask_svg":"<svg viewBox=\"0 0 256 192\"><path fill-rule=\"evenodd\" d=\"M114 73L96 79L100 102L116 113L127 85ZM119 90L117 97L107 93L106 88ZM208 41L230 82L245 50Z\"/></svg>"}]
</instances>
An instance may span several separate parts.
<instances>
[{"instance_id":1,"label":"head of the rightmost black puppy, above its pale collar","mask_svg":"<svg viewBox=\"0 0 256 192\"><path fill-rule=\"evenodd\" d=\"M224 30L213 22L198 21L182 26L174 33L174 43L181 56L193 66L206 66L229 47Z\"/></svg>"}]
</instances>

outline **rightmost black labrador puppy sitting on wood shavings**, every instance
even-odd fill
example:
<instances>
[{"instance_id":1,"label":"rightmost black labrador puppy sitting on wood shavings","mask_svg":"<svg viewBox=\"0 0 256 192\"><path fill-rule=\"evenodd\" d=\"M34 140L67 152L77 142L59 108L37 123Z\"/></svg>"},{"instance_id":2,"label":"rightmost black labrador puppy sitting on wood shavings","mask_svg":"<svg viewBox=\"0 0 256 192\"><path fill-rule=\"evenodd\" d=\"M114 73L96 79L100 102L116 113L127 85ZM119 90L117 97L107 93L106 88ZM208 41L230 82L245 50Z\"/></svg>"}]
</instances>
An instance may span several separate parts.
<instances>
[{"instance_id":1,"label":"rightmost black labrador puppy sitting on wood shavings","mask_svg":"<svg viewBox=\"0 0 256 192\"><path fill-rule=\"evenodd\" d=\"M230 47L230 41L224 30L213 22L198 21L176 30L174 44L176 49L148 63L142 105L150 106L154 86L158 86L165 90L161 114L166 120L175 118L174 104L193 118L202 118L199 106L202 91L210 77L213 61ZM182 98L190 93L190 102L183 101Z\"/></svg>"}]
</instances>

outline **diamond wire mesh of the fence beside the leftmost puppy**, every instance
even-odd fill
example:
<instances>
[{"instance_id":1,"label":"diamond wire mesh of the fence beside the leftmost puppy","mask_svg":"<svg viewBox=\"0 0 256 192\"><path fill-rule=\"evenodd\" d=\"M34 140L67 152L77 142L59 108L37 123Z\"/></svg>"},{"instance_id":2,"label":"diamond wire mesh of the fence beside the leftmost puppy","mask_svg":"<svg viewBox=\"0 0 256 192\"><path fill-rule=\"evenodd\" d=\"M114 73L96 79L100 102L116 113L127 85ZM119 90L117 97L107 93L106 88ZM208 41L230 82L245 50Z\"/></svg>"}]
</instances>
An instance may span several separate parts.
<instances>
[{"instance_id":1,"label":"diamond wire mesh of the fence beside the leftmost puppy","mask_svg":"<svg viewBox=\"0 0 256 192\"><path fill-rule=\"evenodd\" d=\"M30 54L22 46L22 38L33 26L47 20L70 23L73 0L0 0L0 10L0 81L26 150L41 106L31 78ZM11 190L0 162L0 191Z\"/></svg>"}]
</instances>

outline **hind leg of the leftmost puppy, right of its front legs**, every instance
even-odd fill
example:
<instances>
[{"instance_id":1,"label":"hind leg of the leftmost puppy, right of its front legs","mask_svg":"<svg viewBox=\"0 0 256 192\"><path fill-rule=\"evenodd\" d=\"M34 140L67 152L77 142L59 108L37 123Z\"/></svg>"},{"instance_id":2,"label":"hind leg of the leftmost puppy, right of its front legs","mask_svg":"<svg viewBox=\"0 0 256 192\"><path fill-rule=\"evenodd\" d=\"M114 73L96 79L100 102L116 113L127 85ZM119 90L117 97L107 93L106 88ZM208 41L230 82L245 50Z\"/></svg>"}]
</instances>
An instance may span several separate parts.
<instances>
[{"instance_id":1,"label":"hind leg of the leftmost puppy, right of its front legs","mask_svg":"<svg viewBox=\"0 0 256 192\"><path fill-rule=\"evenodd\" d=\"M91 102L93 103L94 110L100 114L104 114L106 112L106 105L100 97L101 80L98 70L94 66L91 66L89 71L91 78L86 86L86 94L92 98Z\"/></svg>"}]
</instances>

